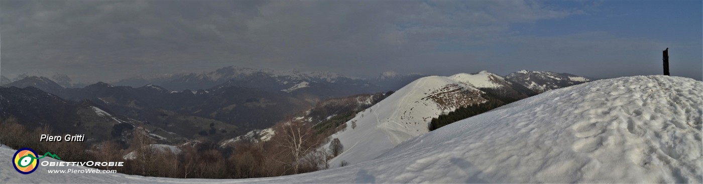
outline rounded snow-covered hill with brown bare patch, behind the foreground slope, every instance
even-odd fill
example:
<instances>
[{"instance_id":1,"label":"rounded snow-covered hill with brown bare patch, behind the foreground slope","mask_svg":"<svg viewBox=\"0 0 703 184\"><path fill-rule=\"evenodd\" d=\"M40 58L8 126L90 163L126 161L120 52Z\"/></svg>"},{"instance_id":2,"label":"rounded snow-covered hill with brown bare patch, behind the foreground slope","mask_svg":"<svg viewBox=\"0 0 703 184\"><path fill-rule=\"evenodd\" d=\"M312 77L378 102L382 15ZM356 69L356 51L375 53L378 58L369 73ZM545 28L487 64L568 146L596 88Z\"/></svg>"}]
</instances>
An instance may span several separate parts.
<instances>
[{"instance_id":1,"label":"rounded snow-covered hill with brown bare patch, behind the foreground slope","mask_svg":"<svg viewBox=\"0 0 703 184\"><path fill-rule=\"evenodd\" d=\"M372 160L399 143L428 132L427 122L460 106L484 103L484 92L449 77L428 76L406 85L378 104L358 113L340 139L344 153L330 165L339 167ZM356 128L352 128L356 124Z\"/></svg>"}]
</instances>

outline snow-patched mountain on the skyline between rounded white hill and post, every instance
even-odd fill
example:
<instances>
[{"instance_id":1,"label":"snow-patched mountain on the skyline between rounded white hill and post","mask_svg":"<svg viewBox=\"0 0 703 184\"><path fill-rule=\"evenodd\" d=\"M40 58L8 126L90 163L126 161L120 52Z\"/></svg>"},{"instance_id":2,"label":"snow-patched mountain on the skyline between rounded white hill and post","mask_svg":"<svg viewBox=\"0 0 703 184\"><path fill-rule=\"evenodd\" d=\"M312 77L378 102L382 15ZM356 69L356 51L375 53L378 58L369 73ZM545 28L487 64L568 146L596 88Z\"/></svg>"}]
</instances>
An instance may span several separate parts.
<instances>
[{"instance_id":1,"label":"snow-patched mountain on the skyline between rounded white hill and post","mask_svg":"<svg viewBox=\"0 0 703 184\"><path fill-rule=\"evenodd\" d=\"M524 85L538 93L591 81L588 78L569 73L526 70L510 73L505 76L505 79L512 83Z\"/></svg>"}]
</instances>

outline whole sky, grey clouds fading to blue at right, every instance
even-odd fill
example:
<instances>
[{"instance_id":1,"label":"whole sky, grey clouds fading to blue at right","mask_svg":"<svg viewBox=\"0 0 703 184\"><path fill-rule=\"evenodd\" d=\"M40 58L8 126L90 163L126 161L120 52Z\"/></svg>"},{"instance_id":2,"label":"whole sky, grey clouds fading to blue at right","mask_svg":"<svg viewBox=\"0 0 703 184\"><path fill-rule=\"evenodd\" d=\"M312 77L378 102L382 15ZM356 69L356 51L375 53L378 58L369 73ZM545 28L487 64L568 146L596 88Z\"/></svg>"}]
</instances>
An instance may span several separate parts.
<instances>
[{"instance_id":1,"label":"whole sky, grey clouds fading to blue at right","mask_svg":"<svg viewBox=\"0 0 703 184\"><path fill-rule=\"evenodd\" d=\"M702 1L0 1L0 74L703 76Z\"/></svg>"}]
</instances>

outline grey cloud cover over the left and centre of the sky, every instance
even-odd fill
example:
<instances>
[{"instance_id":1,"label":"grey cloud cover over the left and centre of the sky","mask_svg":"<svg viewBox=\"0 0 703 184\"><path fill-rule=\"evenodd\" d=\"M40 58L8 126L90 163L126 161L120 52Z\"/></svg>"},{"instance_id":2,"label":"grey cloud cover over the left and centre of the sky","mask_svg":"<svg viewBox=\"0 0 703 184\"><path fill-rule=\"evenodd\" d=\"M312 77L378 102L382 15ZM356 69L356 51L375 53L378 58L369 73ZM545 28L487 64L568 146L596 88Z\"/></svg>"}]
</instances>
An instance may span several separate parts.
<instances>
[{"instance_id":1,"label":"grey cloud cover over the left and centre of the sky","mask_svg":"<svg viewBox=\"0 0 703 184\"><path fill-rule=\"evenodd\" d=\"M531 50L536 48L529 43L550 42L549 38L514 36L508 32L510 24L583 13L549 8L539 1L0 4L4 76L59 72L80 82L228 65L329 70L362 77L386 70L450 74L488 69L501 73L508 71L498 64L524 58L485 47L523 45L527 48L515 52L530 55L541 51ZM445 50L446 45L455 50ZM553 47L544 49L565 49Z\"/></svg>"}]
</instances>

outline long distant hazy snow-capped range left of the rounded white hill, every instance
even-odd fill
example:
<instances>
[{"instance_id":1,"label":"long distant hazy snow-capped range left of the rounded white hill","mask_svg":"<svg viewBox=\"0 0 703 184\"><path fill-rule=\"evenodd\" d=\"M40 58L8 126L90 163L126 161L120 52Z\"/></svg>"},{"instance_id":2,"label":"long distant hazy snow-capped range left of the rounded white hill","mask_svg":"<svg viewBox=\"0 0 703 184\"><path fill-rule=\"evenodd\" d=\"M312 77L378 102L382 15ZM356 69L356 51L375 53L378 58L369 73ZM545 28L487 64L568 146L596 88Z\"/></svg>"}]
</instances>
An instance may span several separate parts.
<instances>
[{"instance_id":1,"label":"long distant hazy snow-capped range left of the rounded white hill","mask_svg":"<svg viewBox=\"0 0 703 184\"><path fill-rule=\"evenodd\" d=\"M203 73L182 73L153 79L130 78L115 85L160 85L169 90L200 90L223 86L250 87L269 92L313 94L341 97L385 89L361 78L342 76L330 71L276 71L228 66Z\"/></svg>"}]
</instances>

